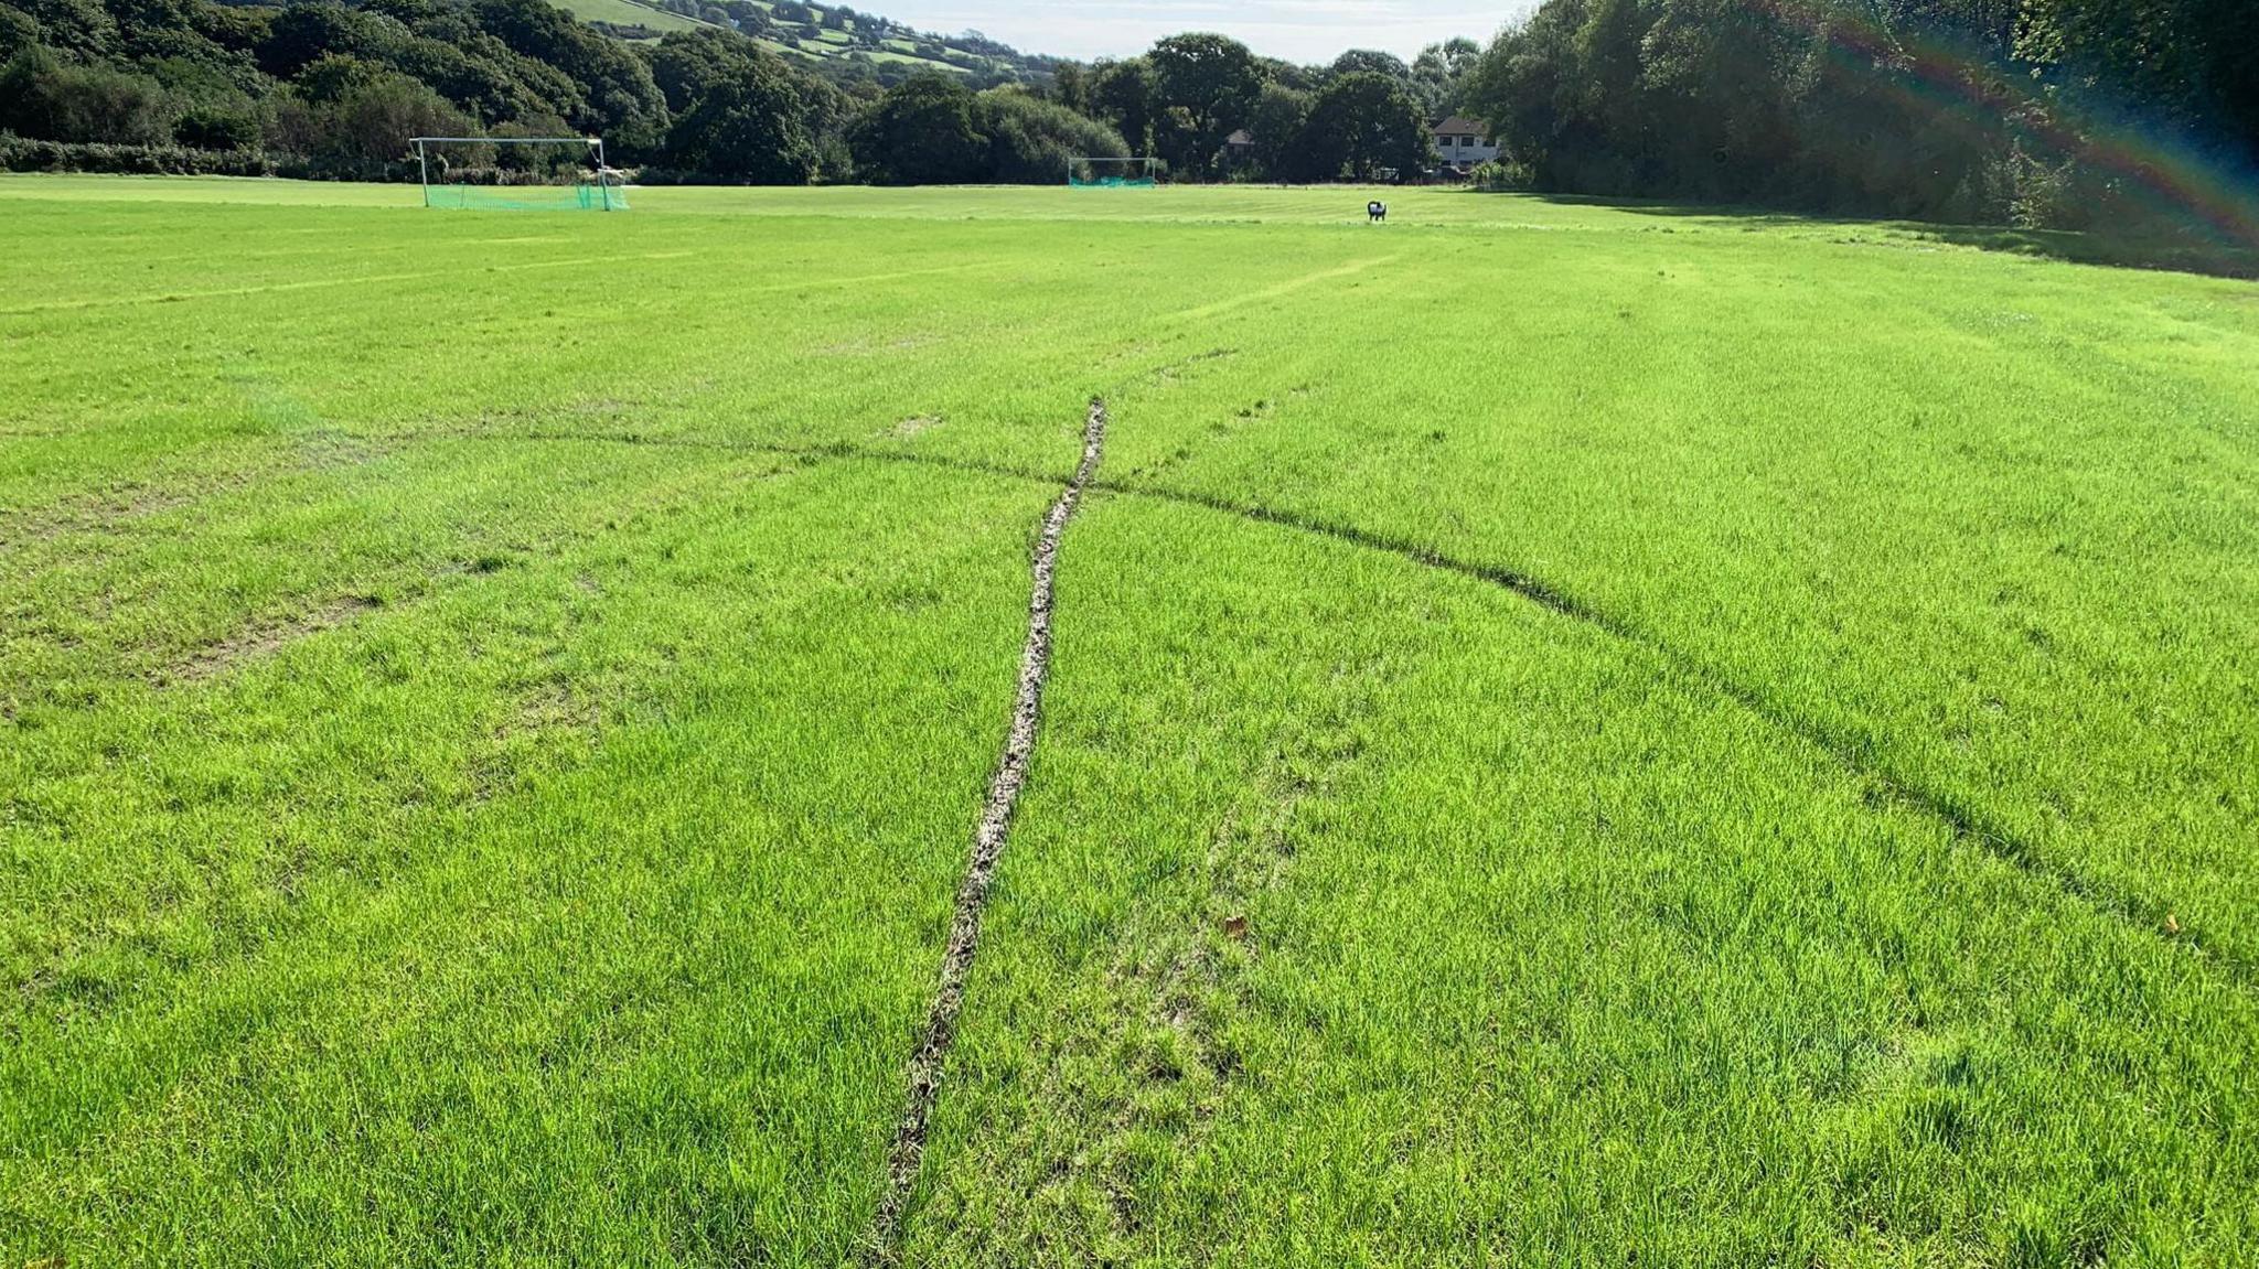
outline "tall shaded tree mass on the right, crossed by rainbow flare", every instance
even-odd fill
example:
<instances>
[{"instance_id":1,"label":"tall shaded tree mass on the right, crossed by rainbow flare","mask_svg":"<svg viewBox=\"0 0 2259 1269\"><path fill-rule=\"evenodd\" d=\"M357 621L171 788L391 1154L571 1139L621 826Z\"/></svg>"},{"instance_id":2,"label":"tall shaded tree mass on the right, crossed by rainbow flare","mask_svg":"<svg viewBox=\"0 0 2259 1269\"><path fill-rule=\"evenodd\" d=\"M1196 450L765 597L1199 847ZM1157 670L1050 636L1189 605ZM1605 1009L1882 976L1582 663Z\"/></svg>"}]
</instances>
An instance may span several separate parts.
<instances>
[{"instance_id":1,"label":"tall shaded tree mass on the right, crossed by rainbow flare","mask_svg":"<svg viewBox=\"0 0 2259 1269\"><path fill-rule=\"evenodd\" d=\"M2259 2L1545 0L1464 93L1543 190L2160 226L2250 187Z\"/></svg>"}]
</instances>

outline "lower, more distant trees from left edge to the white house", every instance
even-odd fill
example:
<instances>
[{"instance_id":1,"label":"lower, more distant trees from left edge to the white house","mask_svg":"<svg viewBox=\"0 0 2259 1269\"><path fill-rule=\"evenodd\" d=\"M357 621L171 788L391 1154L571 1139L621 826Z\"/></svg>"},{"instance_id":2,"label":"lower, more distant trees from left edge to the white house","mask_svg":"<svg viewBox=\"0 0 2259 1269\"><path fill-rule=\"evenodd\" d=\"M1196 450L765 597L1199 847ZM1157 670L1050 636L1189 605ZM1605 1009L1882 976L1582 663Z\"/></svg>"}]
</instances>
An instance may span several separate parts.
<instances>
[{"instance_id":1,"label":"lower, more distant trees from left edge to the white house","mask_svg":"<svg viewBox=\"0 0 2259 1269\"><path fill-rule=\"evenodd\" d=\"M709 7L899 34L845 7ZM418 133L590 133L648 181L1050 183L1071 156L1127 154L1179 181L1324 181L1428 163L1425 115L1475 54L1299 68L1186 34L1098 65L1019 59L1041 75L998 84L818 68L723 25L621 41L544 0L0 0L0 160L404 178Z\"/></svg>"}]
</instances>

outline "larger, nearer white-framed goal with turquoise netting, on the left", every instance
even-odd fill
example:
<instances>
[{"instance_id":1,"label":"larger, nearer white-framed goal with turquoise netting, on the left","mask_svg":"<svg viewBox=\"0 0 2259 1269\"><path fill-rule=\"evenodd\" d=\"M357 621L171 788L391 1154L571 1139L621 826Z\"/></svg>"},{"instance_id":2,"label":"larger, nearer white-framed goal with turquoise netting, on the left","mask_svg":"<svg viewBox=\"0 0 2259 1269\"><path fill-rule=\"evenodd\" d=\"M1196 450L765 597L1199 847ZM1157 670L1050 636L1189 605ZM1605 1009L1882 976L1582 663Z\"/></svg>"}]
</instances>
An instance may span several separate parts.
<instances>
[{"instance_id":1,"label":"larger, nearer white-framed goal with turquoise netting, on the left","mask_svg":"<svg viewBox=\"0 0 2259 1269\"><path fill-rule=\"evenodd\" d=\"M623 212L628 190L599 138L420 135L416 169L427 208Z\"/></svg>"}]
</instances>

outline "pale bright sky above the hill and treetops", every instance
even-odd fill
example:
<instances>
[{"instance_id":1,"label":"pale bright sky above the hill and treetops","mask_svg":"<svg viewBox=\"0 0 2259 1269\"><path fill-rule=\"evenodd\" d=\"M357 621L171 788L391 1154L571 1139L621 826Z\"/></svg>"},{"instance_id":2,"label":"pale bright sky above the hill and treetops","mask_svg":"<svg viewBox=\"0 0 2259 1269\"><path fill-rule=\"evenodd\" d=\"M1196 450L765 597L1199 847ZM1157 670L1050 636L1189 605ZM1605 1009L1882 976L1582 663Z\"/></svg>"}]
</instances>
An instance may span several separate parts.
<instances>
[{"instance_id":1,"label":"pale bright sky above the hill and treetops","mask_svg":"<svg viewBox=\"0 0 2259 1269\"><path fill-rule=\"evenodd\" d=\"M976 29L1021 52L1130 56L1177 32L1222 32L1265 56L1333 61L1378 47L1412 61L1450 36L1491 34L1536 0L856 0L924 32Z\"/></svg>"}]
</instances>

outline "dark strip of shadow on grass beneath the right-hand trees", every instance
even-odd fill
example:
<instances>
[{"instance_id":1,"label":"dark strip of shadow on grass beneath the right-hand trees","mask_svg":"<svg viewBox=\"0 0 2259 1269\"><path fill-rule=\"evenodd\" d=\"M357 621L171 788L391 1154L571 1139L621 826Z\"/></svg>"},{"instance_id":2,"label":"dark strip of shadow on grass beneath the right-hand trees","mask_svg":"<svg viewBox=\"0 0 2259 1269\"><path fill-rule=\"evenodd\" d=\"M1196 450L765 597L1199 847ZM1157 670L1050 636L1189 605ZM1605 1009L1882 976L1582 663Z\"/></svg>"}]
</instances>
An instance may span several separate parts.
<instances>
[{"instance_id":1,"label":"dark strip of shadow on grass beneath the right-hand trees","mask_svg":"<svg viewBox=\"0 0 2259 1269\"><path fill-rule=\"evenodd\" d=\"M2001 251L2008 255L2035 255L2067 260L2072 264L2103 264L2110 269L2166 269L2175 273L2205 273L2212 278L2259 278L2259 246L2236 246L2207 235L2187 237L2119 237L2108 233L2076 233L2049 228L2011 226L1959 226L1931 221L1891 221L1875 217L1839 217L1825 212L1782 212L1780 208L1751 208L1733 203L1681 203L1667 199L1604 199L1593 194L1541 194L1518 190L1525 199L1559 203L1565 208L1613 208L1642 217L1685 217L1733 221L1751 228L1796 228L1796 226L1841 226L1875 228L1916 242L1943 242L1950 246L1972 246L1977 251Z\"/></svg>"}]
</instances>

